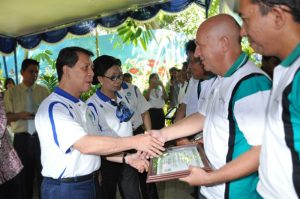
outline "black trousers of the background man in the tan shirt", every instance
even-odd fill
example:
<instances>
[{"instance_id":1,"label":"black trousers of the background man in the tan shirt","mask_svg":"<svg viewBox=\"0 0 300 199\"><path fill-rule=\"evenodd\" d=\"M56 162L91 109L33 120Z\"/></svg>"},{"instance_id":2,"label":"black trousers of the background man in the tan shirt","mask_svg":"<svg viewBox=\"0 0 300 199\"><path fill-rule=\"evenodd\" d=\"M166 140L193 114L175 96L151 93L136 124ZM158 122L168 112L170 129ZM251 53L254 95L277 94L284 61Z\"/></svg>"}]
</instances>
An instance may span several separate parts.
<instances>
[{"instance_id":1,"label":"black trousers of the background man in the tan shirt","mask_svg":"<svg viewBox=\"0 0 300 199\"><path fill-rule=\"evenodd\" d=\"M20 177L25 196L27 199L32 199L34 178L37 177L38 190L42 182L41 148L38 135L16 133L13 145L24 165Z\"/></svg>"}]
</instances>

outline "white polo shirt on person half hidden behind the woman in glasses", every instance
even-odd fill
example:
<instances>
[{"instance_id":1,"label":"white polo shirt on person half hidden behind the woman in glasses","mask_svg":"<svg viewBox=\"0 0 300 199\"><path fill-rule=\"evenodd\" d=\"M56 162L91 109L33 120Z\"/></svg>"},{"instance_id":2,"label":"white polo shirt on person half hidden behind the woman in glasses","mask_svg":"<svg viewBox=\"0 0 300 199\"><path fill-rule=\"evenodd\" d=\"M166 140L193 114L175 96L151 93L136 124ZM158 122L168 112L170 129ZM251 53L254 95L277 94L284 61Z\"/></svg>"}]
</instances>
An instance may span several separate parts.
<instances>
[{"instance_id":1,"label":"white polo shirt on person half hidden behind the woman in glasses","mask_svg":"<svg viewBox=\"0 0 300 199\"><path fill-rule=\"evenodd\" d=\"M133 130L135 130L144 123L141 114L149 110L151 105L142 95L140 89L135 85L123 82L119 93L123 98L128 99L130 108L134 110L134 115L131 118L131 122Z\"/></svg>"}]
</instances>

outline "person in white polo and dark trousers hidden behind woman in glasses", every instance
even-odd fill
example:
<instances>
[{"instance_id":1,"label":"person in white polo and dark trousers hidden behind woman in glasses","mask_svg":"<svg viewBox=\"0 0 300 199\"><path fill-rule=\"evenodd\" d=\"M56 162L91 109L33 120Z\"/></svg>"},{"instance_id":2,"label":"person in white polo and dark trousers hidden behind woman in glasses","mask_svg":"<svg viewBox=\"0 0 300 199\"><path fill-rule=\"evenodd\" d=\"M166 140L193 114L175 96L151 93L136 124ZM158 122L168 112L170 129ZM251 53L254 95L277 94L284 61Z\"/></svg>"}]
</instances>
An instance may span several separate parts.
<instances>
[{"instance_id":1,"label":"person in white polo and dark trousers hidden behind woman in glasses","mask_svg":"<svg viewBox=\"0 0 300 199\"><path fill-rule=\"evenodd\" d=\"M121 62L119 65L121 66ZM151 105L142 95L140 89L136 85L132 85L131 83L125 82L123 79L120 94L128 99L129 106L134 111L134 114L131 118L133 135L143 134L145 130L151 130L151 118L148 111L151 108ZM147 172L138 173L138 175L142 198L158 199L159 196L156 184L146 183ZM121 189L120 192L122 193Z\"/></svg>"}]
</instances>

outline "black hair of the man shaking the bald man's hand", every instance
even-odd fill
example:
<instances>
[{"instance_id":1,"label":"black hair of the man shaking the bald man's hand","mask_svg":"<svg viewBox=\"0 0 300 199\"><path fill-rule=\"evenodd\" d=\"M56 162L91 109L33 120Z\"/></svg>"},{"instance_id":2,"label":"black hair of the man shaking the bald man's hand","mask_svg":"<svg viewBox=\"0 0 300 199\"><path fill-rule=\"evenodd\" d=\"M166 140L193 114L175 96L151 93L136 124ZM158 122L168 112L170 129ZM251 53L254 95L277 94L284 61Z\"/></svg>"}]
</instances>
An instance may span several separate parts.
<instances>
[{"instance_id":1,"label":"black hair of the man shaking the bald man's hand","mask_svg":"<svg viewBox=\"0 0 300 199\"><path fill-rule=\"evenodd\" d=\"M64 66L72 68L77 63L79 59L78 53L83 53L90 57L94 55L91 51L76 46L66 47L60 50L56 60L58 81L60 81L62 78Z\"/></svg>"}]
</instances>

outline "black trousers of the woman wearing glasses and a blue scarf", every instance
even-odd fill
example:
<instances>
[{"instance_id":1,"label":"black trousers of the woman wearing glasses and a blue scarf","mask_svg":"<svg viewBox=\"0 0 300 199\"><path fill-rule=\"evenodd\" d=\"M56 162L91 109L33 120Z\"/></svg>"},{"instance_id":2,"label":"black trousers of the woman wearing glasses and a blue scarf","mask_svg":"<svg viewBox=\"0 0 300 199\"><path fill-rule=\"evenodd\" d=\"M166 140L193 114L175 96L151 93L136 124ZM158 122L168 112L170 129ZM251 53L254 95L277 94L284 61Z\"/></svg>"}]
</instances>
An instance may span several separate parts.
<instances>
[{"instance_id":1,"label":"black trousers of the woman wearing glasses and a blue scarf","mask_svg":"<svg viewBox=\"0 0 300 199\"><path fill-rule=\"evenodd\" d=\"M115 199L117 185L122 198L140 199L137 170L127 164L101 159L102 188L105 199Z\"/></svg>"}]
</instances>

